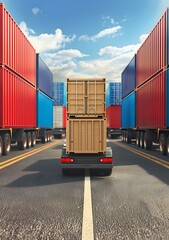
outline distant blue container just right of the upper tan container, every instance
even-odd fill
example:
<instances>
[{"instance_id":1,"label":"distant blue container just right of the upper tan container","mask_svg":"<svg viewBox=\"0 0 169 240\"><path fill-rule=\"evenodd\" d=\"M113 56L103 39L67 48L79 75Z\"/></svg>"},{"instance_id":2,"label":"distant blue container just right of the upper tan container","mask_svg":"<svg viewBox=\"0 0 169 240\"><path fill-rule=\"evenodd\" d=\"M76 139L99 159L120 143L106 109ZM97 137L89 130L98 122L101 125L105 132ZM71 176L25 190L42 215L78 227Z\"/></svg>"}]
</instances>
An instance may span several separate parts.
<instances>
[{"instance_id":1,"label":"distant blue container just right of the upper tan container","mask_svg":"<svg viewBox=\"0 0 169 240\"><path fill-rule=\"evenodd\" d=\"M106 107L110 105L121 105L121 91L121 82L110 82L106 84Z\"/></svg>"}]
</instances>

